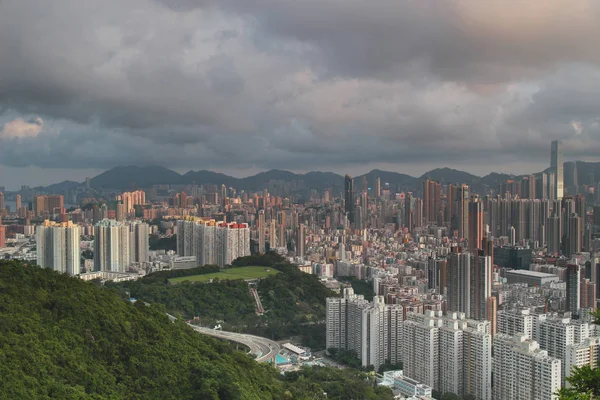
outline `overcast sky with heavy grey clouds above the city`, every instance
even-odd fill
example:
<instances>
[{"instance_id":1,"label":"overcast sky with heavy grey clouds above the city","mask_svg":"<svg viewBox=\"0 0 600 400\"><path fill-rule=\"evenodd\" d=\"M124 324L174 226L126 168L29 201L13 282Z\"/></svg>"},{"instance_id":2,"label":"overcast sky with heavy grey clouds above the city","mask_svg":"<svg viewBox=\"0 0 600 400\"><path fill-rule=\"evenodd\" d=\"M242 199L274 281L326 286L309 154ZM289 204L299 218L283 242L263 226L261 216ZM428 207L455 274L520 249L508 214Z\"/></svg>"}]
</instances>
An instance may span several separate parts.
<instances>
[{"instance_id":1,"label":"overcast sky with heavy grey clouds above the city","mask_svg":"<svg viewBox=\"0 0 600 400\"><path fill-rule=\"evenodd\" d=\"M599 161L600 2L4 0L0 186Z\"/></svg>"}]
</instances>

